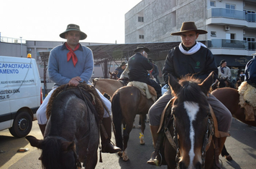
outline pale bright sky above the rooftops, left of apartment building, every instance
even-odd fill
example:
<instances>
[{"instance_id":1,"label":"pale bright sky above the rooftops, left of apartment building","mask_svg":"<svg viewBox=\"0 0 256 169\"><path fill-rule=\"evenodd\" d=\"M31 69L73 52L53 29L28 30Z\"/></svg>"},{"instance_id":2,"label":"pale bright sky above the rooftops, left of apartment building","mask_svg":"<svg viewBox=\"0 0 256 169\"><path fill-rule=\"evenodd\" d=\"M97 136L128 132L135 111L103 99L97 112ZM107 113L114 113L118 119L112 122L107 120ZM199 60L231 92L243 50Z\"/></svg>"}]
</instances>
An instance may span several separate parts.
<instances>
[{"instance_id":1,"label":"pale bright sky above the rooftops, left of apartment building","mask_svg":"<svg viewBox=\"0 0 256 169\"><path fill-rule=\"evenodd\" d=\"M0 0L1 37L65 41L68 24L78 24L81 42L124 44L124 14L142 0Z\"/></svg>"}]
</instances>

